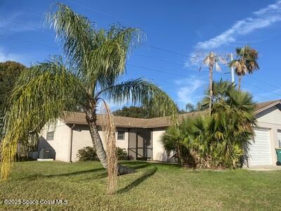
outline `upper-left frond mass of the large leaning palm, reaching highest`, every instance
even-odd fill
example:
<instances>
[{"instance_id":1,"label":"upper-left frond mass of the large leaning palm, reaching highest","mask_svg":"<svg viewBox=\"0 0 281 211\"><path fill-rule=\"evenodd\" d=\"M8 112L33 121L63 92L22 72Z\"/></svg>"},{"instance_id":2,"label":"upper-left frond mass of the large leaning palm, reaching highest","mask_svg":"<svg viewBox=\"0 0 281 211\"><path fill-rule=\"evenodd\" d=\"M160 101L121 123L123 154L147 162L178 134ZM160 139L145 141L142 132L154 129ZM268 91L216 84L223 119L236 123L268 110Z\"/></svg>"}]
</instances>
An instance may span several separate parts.
<instances>
[{"instance_id":1,"label":"upper-left frond mass of the large leaning palm, reaching highest","mask_svg":"<svg viewBox=\"0 0 281 211\"><path fill-rule=\"evenodd\" d=\"M74 13L64 4L54 4L46 13L46 23L53 27L56 39L62 42L65 56L72 63L76 63L80 71L85 71L84 59L94 46L95 36L90 20Z\"/></svg>"}]
</instances>

